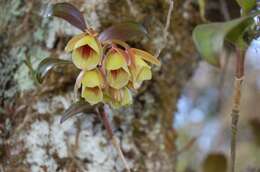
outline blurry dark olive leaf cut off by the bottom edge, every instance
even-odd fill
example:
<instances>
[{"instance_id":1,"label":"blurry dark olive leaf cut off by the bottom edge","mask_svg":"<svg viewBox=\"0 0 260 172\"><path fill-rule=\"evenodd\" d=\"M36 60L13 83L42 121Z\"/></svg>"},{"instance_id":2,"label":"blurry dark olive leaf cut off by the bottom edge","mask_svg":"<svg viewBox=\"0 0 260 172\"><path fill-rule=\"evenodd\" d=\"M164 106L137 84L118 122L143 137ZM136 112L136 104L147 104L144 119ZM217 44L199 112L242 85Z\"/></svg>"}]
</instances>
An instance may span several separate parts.
<instances>
[{"instance_id":1,"label":"blurry dark olive leaf cut off by the bottom edge","mask_svg":"<svg viewBox=\"0 0 260 172\"><path fill-rule=\"evenodd\" d=\"M211 153L203 161L203 172L226 172L227 158L221 153Z\"/></svg>"}]
</instances>

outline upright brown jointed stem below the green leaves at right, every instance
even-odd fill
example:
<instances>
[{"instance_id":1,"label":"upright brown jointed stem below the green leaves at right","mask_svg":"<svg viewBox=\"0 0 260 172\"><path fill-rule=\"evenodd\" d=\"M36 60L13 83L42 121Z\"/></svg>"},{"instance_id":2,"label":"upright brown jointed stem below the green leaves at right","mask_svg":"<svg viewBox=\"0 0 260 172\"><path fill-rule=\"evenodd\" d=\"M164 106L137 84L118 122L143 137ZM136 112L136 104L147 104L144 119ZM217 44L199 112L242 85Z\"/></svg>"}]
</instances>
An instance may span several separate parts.
<instances>
[{"instance_id":1,"label":"upright brown jointed stem below the green leaves at right","mask_svg":"<svg viewBox=\"0 0 260 172\"><path fill-rule=\"evenodd\" d=\"M241 88L244 80L244 54L244 51L237 49L236 75L234 83L235 88L233 96L233 108L231 112L231 172L235 172L237 126L240 113Z\"/></svg>"}]
</instances>

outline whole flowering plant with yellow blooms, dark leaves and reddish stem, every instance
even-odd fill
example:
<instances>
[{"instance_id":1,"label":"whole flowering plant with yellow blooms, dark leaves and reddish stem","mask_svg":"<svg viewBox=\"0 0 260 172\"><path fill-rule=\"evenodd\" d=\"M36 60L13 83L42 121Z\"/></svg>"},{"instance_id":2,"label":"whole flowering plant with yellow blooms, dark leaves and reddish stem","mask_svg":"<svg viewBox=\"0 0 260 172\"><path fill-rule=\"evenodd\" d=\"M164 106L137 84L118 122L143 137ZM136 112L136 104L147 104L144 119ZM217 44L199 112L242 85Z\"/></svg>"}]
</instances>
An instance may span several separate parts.
<instances>
[{"instance_id":1,"label":"whole flowering plant with yellow blooms, dark leaves and reddish stem","mask_svg":"<svg viewBox=\"0 0 260 172\"><path fill-rule=\"evenodd\" d=\"M83 15L69 3L52 5L48 15L65 19L82 33L74 36L65 47L66 52L72 52L72 61L48 57L39 64L37 70L30 68L34 78L41 83L53 67L73 63L81 71L74 87L76 98L79 89L81 96L79 101L66 110L61 122L83 111L99 115L130 171L113 135L104 104L113 108L131 104L131 90L137 90L143 81L152 78L149 63L160 65L160 61L153 55L132 48L125 42L146 35L145 28L135 22L126 22L97 33L86 25Z\"/></svg>"}]
</instances>

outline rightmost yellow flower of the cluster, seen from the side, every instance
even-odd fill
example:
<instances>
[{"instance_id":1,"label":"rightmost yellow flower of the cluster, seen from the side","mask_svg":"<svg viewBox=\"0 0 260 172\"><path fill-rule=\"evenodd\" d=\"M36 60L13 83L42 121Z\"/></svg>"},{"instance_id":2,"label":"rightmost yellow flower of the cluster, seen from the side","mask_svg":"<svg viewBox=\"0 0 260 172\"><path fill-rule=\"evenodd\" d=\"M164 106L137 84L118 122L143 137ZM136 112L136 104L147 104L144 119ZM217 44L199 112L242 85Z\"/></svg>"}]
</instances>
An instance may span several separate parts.
<instances>
[{"instance_id":1,"label":"rightmost yellow flower of the cluster, seen from the side","mask_svg":"<svg viewBox=\"0 0 260 172\"><path fill-rule=\"evenodd\" d=\"M137 89L143 81L152 79L151 67L146 62L160 65L160 61L153 55L135 48L129 49L128 54L132 58L130 65L132 86Z\"/></svg>"}]
</instances>

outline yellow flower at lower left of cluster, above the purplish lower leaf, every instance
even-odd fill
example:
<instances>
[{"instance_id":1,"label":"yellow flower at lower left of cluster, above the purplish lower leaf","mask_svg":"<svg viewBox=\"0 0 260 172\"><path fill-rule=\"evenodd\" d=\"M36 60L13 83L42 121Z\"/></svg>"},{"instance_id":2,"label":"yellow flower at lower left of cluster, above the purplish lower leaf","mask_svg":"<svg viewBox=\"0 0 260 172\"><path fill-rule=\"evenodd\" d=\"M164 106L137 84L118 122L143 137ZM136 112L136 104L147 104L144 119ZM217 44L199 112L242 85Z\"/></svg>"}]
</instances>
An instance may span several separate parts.
<instances>
[{"instance_id":1,"label":"yellow flower at lower left of cluster, above the purplish lower leaf","mask_svg":"<svg viewBox=\"0 0 260 172\"><path fill-rule=\"evenodd\" d=\"M103 76L98 69L85 71L82 80L81 96L91 105L103 101L102 87L104 86Z\"/></svg>"}]
</instances>

